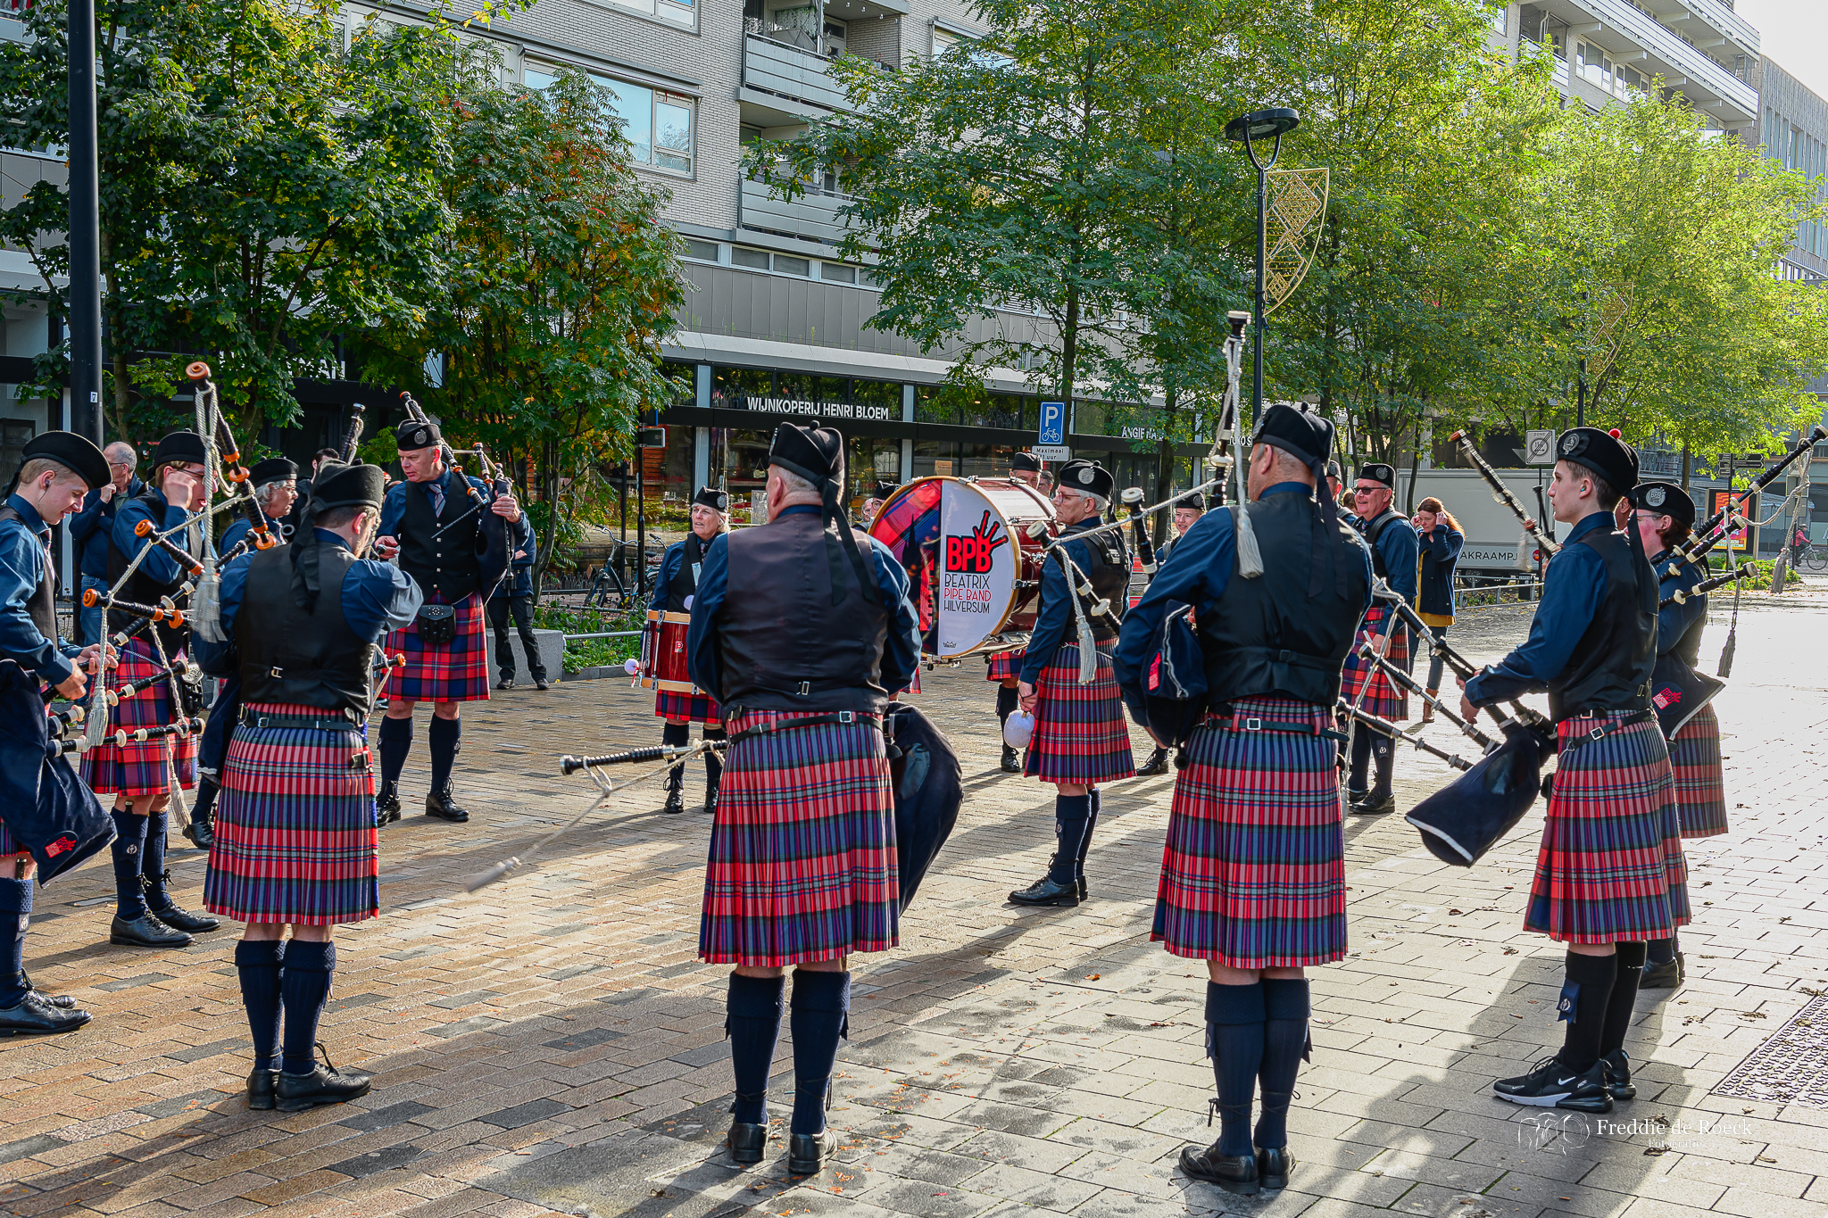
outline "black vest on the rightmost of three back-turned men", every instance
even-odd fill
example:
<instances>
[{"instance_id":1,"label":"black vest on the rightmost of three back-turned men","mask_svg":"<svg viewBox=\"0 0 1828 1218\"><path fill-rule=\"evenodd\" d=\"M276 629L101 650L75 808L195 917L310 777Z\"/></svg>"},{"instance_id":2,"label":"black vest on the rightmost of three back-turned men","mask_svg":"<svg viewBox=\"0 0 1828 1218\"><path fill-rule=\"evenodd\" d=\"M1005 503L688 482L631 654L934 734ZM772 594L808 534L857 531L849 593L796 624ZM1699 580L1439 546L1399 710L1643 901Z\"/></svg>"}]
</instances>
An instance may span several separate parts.
<instances>
[{"instance_id":1,"label":"black vest on the rightmost of three back-turned men","mask_svg":"<svg viewBox=\"0 0 1828 1218\"><path fill-rule=\"evenodd\" d=\"M1217 612L1199 614L1196 621L1214 705L1252 694L1285 694L1316 707L1340 699L1340 668L1353 650L1369 588L1360 542L1342 520L1322 544L1334 548L1333 562L1344 575L1345 595L1338 595L1329 579L1320 595L1309 599L1313 520L1314 504L1307 495L1265 495L1250 506L1263 573L1243 579L1234 548L1232 577Z\"/></svg>"}]
</instances>

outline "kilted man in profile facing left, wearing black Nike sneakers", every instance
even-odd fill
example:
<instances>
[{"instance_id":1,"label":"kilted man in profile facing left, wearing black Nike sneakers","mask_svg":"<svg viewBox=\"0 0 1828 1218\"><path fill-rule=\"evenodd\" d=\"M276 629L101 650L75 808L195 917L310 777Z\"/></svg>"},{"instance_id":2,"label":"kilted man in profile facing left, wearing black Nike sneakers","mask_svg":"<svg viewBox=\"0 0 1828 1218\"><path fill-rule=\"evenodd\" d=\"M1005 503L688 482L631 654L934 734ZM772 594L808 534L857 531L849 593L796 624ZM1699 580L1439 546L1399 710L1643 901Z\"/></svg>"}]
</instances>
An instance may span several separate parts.
<instances>
[{"instance_id":1,"label":"kilted man in profile facing left, wearing black Nike sneakers","mask_svg":"<svg viewBox=\"0 0 1828 1218\"><path fill-rule=\"evenodd\" d=\"M1525 928L1568 946L1552 1057L1493 1090L1532 1107L1610 1112L1631 1099L1631 1026L1645 940L1689 920L1674 774L1651 712L1656 573L1612 509L1638 482L1616 433L1576 427L1548 499L1572 526L1548 564L1530 637L1464 681L1475 707L1548 690L1559 752Z\"/></svg>"}]
</instances>

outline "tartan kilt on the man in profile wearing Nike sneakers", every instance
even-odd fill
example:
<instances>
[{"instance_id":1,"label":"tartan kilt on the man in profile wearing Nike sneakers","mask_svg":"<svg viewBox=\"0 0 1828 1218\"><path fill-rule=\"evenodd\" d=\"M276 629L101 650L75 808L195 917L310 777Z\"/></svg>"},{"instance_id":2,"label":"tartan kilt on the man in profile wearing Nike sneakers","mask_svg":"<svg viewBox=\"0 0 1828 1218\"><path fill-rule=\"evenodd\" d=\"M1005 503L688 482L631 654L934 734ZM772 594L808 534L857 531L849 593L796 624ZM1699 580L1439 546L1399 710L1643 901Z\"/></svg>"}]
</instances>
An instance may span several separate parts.
<instances>
[{"instance_id":1,"label":"tartan kilt on the man in profile wearing Nike sneakers","mask_svg":"<svg viewBox=\"0 0 1828 1218\"><path fill-rule=\"evenodd\" d=\"M1651 718L1587 740L1598 725L1556 729L1561 754L1523 924L1559 942L1667 939L1689 920L1689 889L1663 732Z\"/></svg>"}]
</instances>

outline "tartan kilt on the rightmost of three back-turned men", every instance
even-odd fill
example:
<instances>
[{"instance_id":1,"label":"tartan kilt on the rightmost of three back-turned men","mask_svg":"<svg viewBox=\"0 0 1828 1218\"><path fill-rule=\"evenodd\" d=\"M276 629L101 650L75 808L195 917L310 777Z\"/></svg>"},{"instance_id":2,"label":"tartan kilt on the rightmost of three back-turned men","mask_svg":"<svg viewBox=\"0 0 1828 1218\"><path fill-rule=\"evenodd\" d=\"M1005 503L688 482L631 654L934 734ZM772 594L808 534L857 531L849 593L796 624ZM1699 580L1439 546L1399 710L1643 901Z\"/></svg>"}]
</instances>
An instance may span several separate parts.
<instances>
[{"instance_id":1,"label":"tartan kilt on the rightmost of three back-turned men","mask_svg":"<svg viewBox=\"0 0 1828 1218\"><path fill-rule=\"evenodd\" d=\"M1333 730L1291 698L1239 698L1238 718ZM1303 968L1345 955L1345 840L1329 736L1234 732L1212 719L1174 782L1150 939L1230 968Z\"/></svg>"}]
</instances>

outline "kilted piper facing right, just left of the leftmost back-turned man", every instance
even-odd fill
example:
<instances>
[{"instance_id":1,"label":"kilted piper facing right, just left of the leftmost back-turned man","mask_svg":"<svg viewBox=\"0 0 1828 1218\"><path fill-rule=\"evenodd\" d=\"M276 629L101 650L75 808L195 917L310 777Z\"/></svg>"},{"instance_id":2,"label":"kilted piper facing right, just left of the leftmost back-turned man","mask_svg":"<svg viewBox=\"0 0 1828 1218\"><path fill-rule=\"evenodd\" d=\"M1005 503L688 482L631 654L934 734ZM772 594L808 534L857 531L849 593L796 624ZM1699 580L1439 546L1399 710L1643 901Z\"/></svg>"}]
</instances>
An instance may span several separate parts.
<instances>
[{"instance_id":1,"label":"kilted piper facing right, just left of the leftmost back-turned man","mask_svg":"<svg viewBox=\"0 0 1828 1218\"><path fill-rule=\"evenodd\" d=\"M163 533L190 520L207 502L207 460L203 436L194 431L174 431L159 440L152 455L146 489L121 504L115 513L108 539L108 584L117 586L115 595L122 601L159 604L161 599L175 601L183 595L185 570L150 537L141 537L139 526L148 522ZM190 530L177 530L170 541L179 550L190 551ZM126 575L135 559L139 566ZM110 623L112 630L124 625L119 615L110 617ZM175 630L165 623L148 626L121 648L117 681L137 681L157 674L183 659L188 643L188 626ZM170 677L122 698L108 712L108 730L168 727L179 718L201 714L201 707L181 705L179 685ZM130 948L183 948L190 944L192 933L216 929L219 926L216 919L181 909L166 889L170 880L170 871L165 869L166 803L174 783L186 789L197 783L196 734L99 745L82 754L82 778L95 794L115 796L112 849L117 909L108 928L108 942Z\"/></svg>"}]
</instances>

